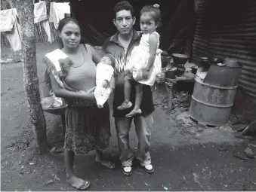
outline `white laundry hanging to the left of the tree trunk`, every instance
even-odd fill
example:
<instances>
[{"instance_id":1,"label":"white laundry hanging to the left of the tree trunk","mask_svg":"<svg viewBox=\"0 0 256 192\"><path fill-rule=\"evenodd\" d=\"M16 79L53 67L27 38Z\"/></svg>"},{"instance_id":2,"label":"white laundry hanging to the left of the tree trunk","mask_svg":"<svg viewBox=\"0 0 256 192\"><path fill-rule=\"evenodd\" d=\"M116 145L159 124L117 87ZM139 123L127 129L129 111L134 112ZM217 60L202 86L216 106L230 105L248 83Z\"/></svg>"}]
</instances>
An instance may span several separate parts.
<instances>
[{"instance_id":1,"label":"white laundry hanging to the left of the tree trunk","mask_svg":"<svg viewBox=\"0 0 256 192\"><path fill-rule=\"evenodd\" d=\"M0 11L0 31L5 32L14 51L21 50L20 24L17 23L16 17L16 9Z\"/></svg>"}]
</instances>

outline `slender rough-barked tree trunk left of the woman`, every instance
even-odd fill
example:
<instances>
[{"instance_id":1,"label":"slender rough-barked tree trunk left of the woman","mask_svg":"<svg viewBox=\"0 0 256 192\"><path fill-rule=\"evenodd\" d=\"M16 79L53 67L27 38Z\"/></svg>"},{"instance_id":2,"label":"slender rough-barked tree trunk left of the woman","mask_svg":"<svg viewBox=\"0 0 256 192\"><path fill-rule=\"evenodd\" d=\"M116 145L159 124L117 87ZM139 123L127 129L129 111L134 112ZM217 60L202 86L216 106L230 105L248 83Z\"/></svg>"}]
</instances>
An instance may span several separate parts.
<instances>
[{"instance_id":1,"label":"slender rough-barked tree trunk left of the woman","mask_svg":"<svg viewBox=\"0 0 256 192\"><path fill-rule=\"evenodd\" d=\"M26 101L29 108L29 119L34 133L35 149L39 154L48 151L45 115L40 103L39 78L35 58L35 26L33 0L17 0L17 11L20 18L21 40L23 51L23 81Z\"/></svg>"}]
</instances>

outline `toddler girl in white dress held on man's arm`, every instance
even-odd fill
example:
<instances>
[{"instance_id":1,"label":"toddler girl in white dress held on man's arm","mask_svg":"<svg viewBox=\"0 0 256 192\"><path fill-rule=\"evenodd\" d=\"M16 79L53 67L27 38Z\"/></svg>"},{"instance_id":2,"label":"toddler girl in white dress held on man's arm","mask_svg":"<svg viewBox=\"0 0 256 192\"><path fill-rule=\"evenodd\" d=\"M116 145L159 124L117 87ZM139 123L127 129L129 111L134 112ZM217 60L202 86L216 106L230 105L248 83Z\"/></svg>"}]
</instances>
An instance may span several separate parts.
<instances>
[{"instance_id":1,"label":"toddler girl in white dress held on man's arm","mask_svg":"<svg viewBox=\"0 0 256 192\"><path fill-rule=\"evenodd\" d=\"M144 6L140 11L140 29L143 35L140 44L131 51L131 56L125 66L125 102L118 107L119 110L131 108L131 81L137 81L134 109L126 117L141 114L140 102L143 96L143 84L153 86L156 75L161 74L162 50L159 50L159 33L156 32L159 24L159 5Z\"/></svg>"}]
</instances>

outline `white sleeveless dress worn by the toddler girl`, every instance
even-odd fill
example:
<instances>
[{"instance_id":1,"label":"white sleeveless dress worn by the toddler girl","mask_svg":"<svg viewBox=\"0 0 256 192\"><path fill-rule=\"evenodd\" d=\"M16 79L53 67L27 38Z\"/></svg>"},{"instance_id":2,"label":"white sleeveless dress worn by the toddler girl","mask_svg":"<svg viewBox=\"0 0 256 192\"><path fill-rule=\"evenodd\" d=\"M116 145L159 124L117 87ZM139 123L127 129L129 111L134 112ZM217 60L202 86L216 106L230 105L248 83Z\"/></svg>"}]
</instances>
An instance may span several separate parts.
<instances>
[{"instance_id":1,"label":"white sleeveless dress worn by the toddler girl","mask_svg":"<svg viewBox=\"0 0 256 192\"><path fill-rule=\"evenodd\" d=\"M153 32L150 34L156 34L159 39L159 33ZM156 50L156 59L153 63L152 68L150 69L150 73L147 79L142 79L142 71L141 69L147 66L148 59L150 57L150 34L143 34L140 39L140 44L131 51L131 56L128 60L127 65L125 66L125 70L131 72L132 77L135 81L139 82L140 84L147 84L153 86L156 81L156 76L160 75L162 72L162 62L161 62L161 53L162 50L159 49L159 42L157 44Z\"/></svg>"}]
</instances>

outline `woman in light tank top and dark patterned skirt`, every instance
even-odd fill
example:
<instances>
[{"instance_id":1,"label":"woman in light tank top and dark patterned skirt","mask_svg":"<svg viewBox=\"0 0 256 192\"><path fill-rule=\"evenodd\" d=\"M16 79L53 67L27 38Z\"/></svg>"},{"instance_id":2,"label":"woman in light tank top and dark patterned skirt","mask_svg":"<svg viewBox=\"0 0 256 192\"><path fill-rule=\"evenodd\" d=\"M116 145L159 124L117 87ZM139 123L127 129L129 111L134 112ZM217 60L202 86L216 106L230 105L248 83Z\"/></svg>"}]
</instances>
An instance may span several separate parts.
<instances>
[{"instance_id":1,"label":"woman in light tank top and dark patterned skirt","mask_svg":"<svg viewBox=\"0 0 256 192\"><path fill-rule=\"evenodd\" d=\"M62 51L72 61L63 81L69 87L79 90L75 92L63 89L54 75L50 74L54 95L65 99L69 104L65 111L66 181L76 189L85 190L90 182L74 175L75 154L85 154L96 149L96 161L109 169L114 168L109 160L103 160L102 153L109 145L109 106L106 103L103 108L97 108L93 93L96 77L94 63L100 62L101 56L89 44L80 44L81 33L76 20L60 20L58 32L63 43Z\"/></svg>"}]
</instances>

